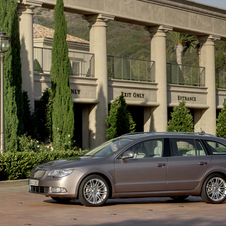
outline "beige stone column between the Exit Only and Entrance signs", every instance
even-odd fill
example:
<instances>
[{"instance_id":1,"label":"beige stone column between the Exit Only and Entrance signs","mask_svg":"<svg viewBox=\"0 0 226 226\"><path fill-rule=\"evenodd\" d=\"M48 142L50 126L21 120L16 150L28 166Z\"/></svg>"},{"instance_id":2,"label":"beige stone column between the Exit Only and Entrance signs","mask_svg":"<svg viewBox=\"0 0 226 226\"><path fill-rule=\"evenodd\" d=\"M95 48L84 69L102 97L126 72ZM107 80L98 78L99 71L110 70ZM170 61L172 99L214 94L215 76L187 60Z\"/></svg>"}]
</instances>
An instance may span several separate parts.
<instances>
[{"instance_id":1,"label":"beige stone column between the Exit Only and Entrance signs","mask_svg":"<svg viewBox=\"0 0 226 226\"><path fill-rule=\"evenodd\" d=\"M166 33L169 26L147 27L151 33L151 60L155 61L155 82L158 83L157 102L153 111L151 128L155 132L164 132L167 127L167 72L166 72Z\"/></svg>"}]
</instances>

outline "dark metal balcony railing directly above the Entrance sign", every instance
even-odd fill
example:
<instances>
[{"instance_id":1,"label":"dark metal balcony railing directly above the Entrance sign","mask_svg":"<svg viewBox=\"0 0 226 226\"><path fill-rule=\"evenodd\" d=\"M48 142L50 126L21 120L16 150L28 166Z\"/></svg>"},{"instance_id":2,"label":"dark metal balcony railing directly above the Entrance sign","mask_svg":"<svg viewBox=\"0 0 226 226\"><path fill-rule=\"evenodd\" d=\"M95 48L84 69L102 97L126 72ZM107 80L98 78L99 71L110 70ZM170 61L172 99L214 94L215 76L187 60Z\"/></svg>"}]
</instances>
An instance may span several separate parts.
<instances>
[{"instance_id":1,"label":"dark metal balcony railing directly above the Entrance sign","mask_svg":"<svg viewBox=\"0 0 226 226\"><path fill-rule=\"evenodd\" d=\"M167 83L205 86L205 68L167 63Z\"/></svg>"}]
</instances>

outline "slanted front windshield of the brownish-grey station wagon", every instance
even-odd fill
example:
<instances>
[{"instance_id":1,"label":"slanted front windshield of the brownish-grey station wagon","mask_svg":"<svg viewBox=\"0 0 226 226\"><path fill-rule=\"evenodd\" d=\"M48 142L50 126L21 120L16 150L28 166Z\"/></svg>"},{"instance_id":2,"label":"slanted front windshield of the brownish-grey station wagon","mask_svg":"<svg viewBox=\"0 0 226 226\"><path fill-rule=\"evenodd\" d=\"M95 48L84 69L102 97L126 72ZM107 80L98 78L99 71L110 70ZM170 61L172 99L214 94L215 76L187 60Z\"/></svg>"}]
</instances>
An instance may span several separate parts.
<instances>
[{"instance_id":1,"label":"slanted front windshield of the brownish-grey station wagon","mask_svg":"<svg viewBox=\"0 0 226 226\"><path fill-rule=\"evenodd\" d=\"M132 142L132 139L118 138L109 140L100 146L90 150L85 153L84 156L95 156L95 157L107 157L118 151L119 149L126 146L128 143Z\"/></svg>"}]
</instances>

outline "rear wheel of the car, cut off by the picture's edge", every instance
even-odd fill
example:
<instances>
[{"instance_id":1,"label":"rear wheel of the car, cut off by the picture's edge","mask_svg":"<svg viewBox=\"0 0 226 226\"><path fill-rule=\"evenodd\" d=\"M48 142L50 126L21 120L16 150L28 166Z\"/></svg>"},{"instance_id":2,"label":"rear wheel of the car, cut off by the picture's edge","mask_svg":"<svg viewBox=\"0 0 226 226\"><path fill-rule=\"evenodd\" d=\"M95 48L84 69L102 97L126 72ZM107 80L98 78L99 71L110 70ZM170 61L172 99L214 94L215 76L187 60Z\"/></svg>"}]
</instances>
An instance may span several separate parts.
<instances>
[{"instance_id":1,"label":"rear wheel of the car, cut off by the picture's edge","mask_svg":"<svg viewBox=\"0 0 226 226\"><path fill-rule=\"evenodd\" d=\"M209 175L203 183L201 197L204 202L220 204L226 199L226 178L221 174Z\"/></svg>"}]
</instances>

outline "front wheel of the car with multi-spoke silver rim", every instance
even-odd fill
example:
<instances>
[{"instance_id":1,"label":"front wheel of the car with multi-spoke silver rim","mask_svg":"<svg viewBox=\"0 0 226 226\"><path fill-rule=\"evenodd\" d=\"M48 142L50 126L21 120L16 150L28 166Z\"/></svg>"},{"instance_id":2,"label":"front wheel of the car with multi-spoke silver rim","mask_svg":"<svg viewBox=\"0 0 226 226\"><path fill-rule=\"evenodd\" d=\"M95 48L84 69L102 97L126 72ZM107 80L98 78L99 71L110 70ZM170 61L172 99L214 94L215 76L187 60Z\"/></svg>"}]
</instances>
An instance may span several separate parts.
<instances>
[{"instance_id":1,"label":"front wheel of the car with multi-spoke silver rim","mask_svg":"<svg viewBox=\"0 0 226 226\"><path fill-rule=\"evenodd\" d=\"M109 197L109 184L99 175L86 177L79 187L79 201L85 206L102 206Z\"/></svg>"}]
</instances>

